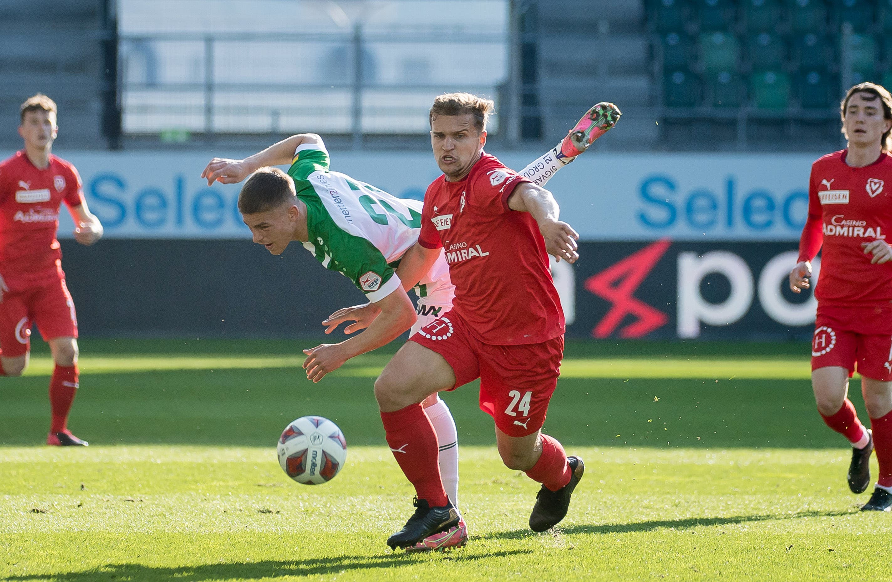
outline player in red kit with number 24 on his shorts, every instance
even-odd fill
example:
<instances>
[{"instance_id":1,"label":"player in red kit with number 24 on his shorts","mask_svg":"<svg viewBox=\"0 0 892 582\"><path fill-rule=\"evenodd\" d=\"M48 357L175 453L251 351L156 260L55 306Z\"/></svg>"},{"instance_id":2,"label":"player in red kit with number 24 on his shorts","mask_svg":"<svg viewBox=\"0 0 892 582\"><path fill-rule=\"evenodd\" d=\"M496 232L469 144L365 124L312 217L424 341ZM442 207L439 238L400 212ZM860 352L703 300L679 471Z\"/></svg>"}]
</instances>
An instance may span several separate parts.
<instances>
[{"instance_id":1,"label":"player in red kit with number 24 on his shorts","mask_svg":"<svg viewBox=\"0 0 892 582\"><path fill-rule=\"evenodd\" d=\"M495 421L502 460L542 484L533 530L564 518L584 470L582 459L568 458L540 431L564 348L548 254L574 262L578 234L558 220L549 191L483 152L491 109L471 94L443 94L430 111L443 176L427 188L418 242L397 274L417 281L442 248L456 294L451 310L411 336L375 383L387 443L417 492L415 514L387 540L392 548L414 546L460 519L420 404L440 390L481 379L480 406Z\"/></svg>"}]
</instances>

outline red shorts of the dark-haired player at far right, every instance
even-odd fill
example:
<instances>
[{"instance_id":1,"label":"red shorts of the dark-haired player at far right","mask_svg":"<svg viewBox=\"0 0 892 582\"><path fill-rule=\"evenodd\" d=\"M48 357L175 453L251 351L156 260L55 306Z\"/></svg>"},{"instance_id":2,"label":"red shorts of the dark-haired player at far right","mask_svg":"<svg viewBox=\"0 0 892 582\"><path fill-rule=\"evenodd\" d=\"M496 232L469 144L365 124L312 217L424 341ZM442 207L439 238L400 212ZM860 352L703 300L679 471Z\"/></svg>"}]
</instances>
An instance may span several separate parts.
<instances>
[{"instance_id":1,"label":"red shorts of the dark-haired player at far right","mask_svg":"<svg viewBox=\"0 0 892 582\"><path fill-rule=\"evenodd\" d=\"M822 307L814 320L812 370L837 365L852 376L892 381L892 317L889 307Z\"/></svg>"}]
</instances>

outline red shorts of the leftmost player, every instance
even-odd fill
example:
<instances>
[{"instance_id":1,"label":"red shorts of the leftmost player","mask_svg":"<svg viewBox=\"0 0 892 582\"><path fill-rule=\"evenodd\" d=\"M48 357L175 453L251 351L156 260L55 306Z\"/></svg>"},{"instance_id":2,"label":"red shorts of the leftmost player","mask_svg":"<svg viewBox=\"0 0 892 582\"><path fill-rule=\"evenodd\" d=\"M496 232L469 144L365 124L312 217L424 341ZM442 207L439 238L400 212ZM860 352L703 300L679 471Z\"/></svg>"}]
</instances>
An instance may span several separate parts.
<instances>
[{"instance_id":1,"label":"red shorts of the leftmost player","mask_svg":"<svg viewBox=\"0 0 892 582\"><path fill-rule=\"evenodd\" d=\"M31 325L44 340L78 337L78 317L65 279L56 278L23 291L4 293L0 302L0 349L5 357L24 356Z\"/></svg>"}]
</instances>

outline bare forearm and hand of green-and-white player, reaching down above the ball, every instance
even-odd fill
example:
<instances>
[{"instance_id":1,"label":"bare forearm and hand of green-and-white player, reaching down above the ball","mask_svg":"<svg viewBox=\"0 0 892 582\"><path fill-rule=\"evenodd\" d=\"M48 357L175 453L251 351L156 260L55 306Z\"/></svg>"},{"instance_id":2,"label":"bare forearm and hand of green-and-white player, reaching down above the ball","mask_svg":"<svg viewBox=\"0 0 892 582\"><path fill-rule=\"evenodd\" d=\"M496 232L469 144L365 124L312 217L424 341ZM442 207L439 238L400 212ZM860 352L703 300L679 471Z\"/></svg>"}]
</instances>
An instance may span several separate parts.
<instances>
[{"instance_id":1,"label":"bare forearm and hand of green-and-white player, reaching down above the ball","mask_svg":"<svg viewBox=\"0 0 892 582\"><path fill-rule=\"evenodd\" d=\"M365 332L353 336L341 343L324 343L316 348L304 349L307 359L303 367L307 371L307 378L318 382L326 373L334 372L351 357L365 354L376 348L380 348L396 340L402 332L405 332L415 323L415 307L406 291L398 287L390 295L377 301L381 314L368 325Z\"/></svg>"}]
</instances>

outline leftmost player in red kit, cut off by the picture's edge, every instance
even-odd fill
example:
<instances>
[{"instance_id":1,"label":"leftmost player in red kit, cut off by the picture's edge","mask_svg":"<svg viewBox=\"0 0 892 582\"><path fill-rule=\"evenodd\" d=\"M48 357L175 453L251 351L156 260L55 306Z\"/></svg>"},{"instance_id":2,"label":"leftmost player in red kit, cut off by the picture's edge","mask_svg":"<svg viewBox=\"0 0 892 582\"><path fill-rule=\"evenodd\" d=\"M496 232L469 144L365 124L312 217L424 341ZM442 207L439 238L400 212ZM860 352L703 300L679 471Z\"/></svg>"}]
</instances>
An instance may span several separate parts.
<instances>
[{"instance_id":1,"label":"leftmost player in red kit, cut off by the picture's edge","mask_svg":"<svg viewBox=\"0 0 892 582\"><path fill-rule=\"evenodd\" d=\"M55 364L46 444L87 447L67 426L78 389L78 320L55 237L62 201L81 244L98 241L103 227L87 209L78 170L52 154L58 131L55 102L30 97L21 104L25 148L0 162L0 375L21 376L28 367L31 325L37 324Z\"/></svg>"}]
</instances>

